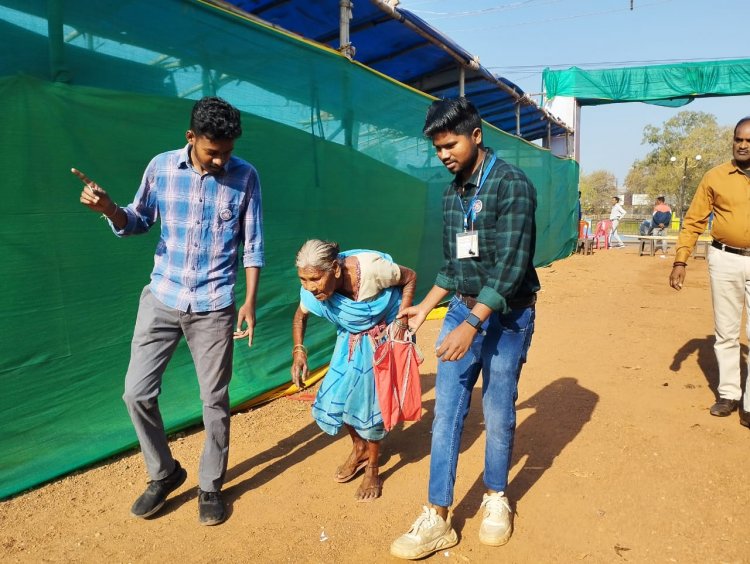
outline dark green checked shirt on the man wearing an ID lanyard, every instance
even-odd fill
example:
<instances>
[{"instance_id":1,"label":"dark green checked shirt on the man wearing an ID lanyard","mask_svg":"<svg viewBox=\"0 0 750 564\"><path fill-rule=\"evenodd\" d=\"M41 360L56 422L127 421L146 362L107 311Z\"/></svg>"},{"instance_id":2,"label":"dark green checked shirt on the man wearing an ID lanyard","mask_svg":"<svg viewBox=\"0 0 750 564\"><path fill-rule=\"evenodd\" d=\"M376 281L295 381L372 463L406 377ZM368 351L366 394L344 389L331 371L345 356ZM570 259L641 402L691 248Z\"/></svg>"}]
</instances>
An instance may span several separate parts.
<instances>
[{"instance_id":1,"label":"dark green checked shirt on the man wearing an ID lanyard","mask_svg":"<svg viewBox=\"0 0 750 564\"><path fill-rule=\"evenodd\" d=\"M487 148L488 163L492 155L492 149ZM530 297L540 288L534 269L536 189L521 169L498 158L479 192L481 210L474 223L479 258L457 259L456 234L463 232L464 222L459 198L468 210L478 175L479 171L464 186L454 179L443 193L445 262L435 285L477 296L493 311L508 313L508 300Z\"/></svg>"}]
</instances>

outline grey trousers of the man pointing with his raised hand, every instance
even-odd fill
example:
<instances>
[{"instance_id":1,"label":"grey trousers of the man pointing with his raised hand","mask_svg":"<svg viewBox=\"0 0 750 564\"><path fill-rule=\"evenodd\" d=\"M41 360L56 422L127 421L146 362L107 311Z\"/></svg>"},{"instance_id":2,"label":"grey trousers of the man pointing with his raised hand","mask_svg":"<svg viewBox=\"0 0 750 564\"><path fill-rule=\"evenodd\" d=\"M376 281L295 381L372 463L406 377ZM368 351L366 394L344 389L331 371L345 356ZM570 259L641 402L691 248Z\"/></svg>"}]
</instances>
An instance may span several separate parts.
<instances>
[{"instance_id":1,"label":"grey trousers of the man pointing with his raised hand","mask_svg":"<svg viewBox=\"0 0 750 564\"><path fill-rule=\"evenodd\" d=\"M219 311L183 313L157 300L148 286L143 289L122 399L152 480L167 477L175 468L159 411L159 393L167 363L185 335L198 375L206 433L198 483L203 491L221 490L229 458L234 323L234 305Z\"/></svg>"}]
</instances>

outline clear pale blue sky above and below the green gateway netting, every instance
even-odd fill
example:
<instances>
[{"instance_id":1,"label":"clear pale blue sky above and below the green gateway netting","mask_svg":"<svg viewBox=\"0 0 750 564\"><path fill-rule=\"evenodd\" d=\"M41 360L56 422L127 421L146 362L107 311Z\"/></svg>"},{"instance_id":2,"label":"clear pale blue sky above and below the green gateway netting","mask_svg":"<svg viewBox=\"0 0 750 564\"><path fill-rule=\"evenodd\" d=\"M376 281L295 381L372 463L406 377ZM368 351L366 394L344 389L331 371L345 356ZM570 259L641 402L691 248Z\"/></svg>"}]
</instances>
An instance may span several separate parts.
<instances>
[{"instance_id":1,"label":"clear pale blue sky above and below the green gateway netting","mask_svg":"<svg viewBox=\"0 0 750 564\"><path fill-rule=\"evenodd\" d=\"M483 66L529 94L542 90L542 70L614 68L688 61L750 59L741 0L402 0ZM539 98L535 98L537 102ZM682 108L630 103L584 107L581 170L612 172L619 184L648 152L643 128L682 110L714 114L734 125L750 114L750 96L704 98ZM731 155L727 140L727 158Z\"/></svg>"}]
</instances>

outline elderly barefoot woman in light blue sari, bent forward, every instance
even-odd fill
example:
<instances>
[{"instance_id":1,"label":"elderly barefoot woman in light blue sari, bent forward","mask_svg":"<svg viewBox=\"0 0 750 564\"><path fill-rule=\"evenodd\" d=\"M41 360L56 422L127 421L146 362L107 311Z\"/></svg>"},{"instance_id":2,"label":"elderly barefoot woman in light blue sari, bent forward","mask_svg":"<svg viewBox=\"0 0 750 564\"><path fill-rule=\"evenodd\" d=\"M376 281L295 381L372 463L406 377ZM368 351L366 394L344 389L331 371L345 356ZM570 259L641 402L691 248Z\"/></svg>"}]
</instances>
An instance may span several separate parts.
<instances>
[{"instance_id":1,"label":"elderly barefoot woman in light blue sari, bent forward","mask_svg":"<svg viewBox=\"0 0 750 564\"><path fill-rule=\"evenodd\" d=\"M372 501L382 491L378 454L386 434L372 372L372 337L411 305L417 275L385 253L340 252L336 243L319 239L302 245L296 266L302 288L292 323L292 380L300 386L308 374L303 345L308 315L327 319L336 326L336 346L312 415L330 435L342 425L349 432L352 452L336 469L334 480L347 482L364 469L354 497ZM397 323L406 327L400 320Z\"/></svg>"}]
</instances>

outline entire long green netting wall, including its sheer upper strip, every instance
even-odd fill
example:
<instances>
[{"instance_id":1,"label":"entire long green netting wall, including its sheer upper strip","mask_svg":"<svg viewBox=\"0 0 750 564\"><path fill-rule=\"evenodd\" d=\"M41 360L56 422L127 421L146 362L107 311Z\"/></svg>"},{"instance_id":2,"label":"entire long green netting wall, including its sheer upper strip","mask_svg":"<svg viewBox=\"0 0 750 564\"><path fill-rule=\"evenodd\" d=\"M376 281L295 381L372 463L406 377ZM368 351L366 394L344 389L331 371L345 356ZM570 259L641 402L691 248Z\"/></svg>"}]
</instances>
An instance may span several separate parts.
<instances>
[{"instance_id":1,"label":"entire long green netting wall, including its sheer upper strip","mask_svg":"<svg viewBox=\"0 0 750 564\"><path fill-rule=\"evenodd\" d=\"M0 36L13 46L0 58L0 498L137 444L120 396L158 233L116 238L78 202L69 171L129 203L151 157L183 146L201 96L242 111L235 154L257 167L263 192L267 266L254 345L235 345L232 405L290 379L294 254L306 239L388 252L418 272L418 296L432 285L449 174L421 136L426 96L200 2L0 0ZM538 189L537 263L569 255L576 163L485 136ZM311 366L334 340L311 320ZM170 431L200 421L184 343L162 391Z\"/></svg>"}]
</instances>

